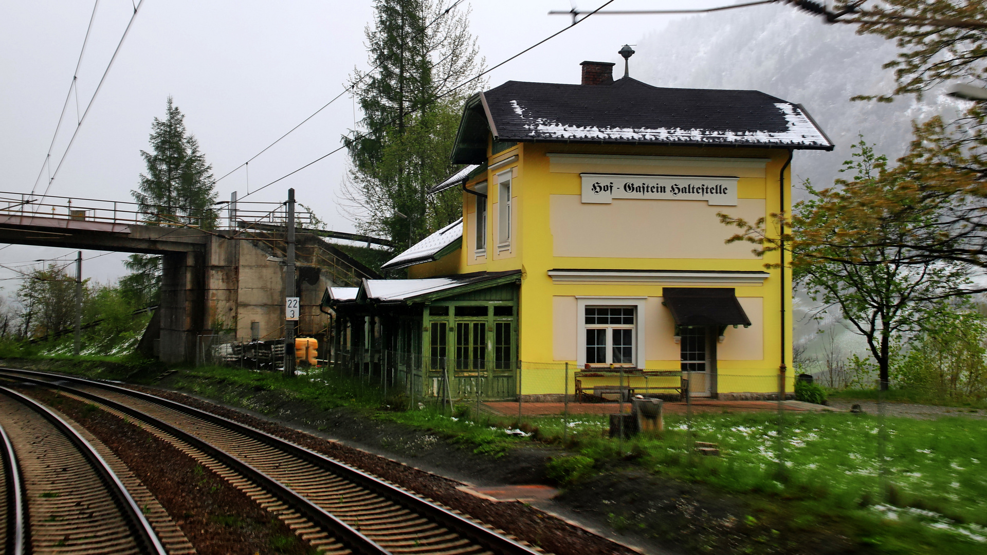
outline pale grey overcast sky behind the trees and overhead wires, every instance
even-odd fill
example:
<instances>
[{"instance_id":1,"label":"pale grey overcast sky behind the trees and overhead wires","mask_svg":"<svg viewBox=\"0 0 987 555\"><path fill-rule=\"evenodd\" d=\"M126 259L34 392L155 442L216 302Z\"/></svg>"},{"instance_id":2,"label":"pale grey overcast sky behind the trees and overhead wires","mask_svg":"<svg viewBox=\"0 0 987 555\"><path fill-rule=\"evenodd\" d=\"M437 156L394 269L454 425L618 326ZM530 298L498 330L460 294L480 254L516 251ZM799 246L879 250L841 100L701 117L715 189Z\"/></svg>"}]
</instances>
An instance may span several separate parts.
<instances>
[{"instance_id":1,"label":"pale grey overcast sky behind the trees and overhead wires","mask_svg":"<svg viewBox=\"0 0 987 555\"><path fill-rule=\"evenodd\" d=\"M602 2L575 5L589 10ZM682 9L724 3L732 2L617 0L608 8ZM567 0L474 0L463 5L472 9L472 32L488 65L569 26L568 16L547 14L549 10L569 10ZM773 6L770 10L773 12L763 12L766 17L791 8ZM45 153L92 11L93 2L83 0L0 4L0 191L31 192L39 172L38 191L44 191ZM76 126L76 106L81 113L90 102L132 13L131 0L99 2L78 72L78 98L73 93L52 149L52 171ZM688 56L688 52L703 51L731 18L735 21L727 15L732 13L688 20L683 16L594 16L494 70L490 84L509 79L576 83L580 61L617 62L621 58L616 52L622 44L641 42L631 60L632 76L645 76L654 85L668 85L661 82L660 71L666 52L651 50L674 48L681 67L683 52ZM148 147L151 122L163 117L169 95L186 115L186 123L216 177L226 174L339 94L354 67L368 67L363 30L372 14L368 0L143 0L49 194L130 200L129 192L136 188L144 169L139 152ZM808 15L797 17L810 19ZM688 26L690 31L678 34L673 45L663 42L661 38L674 33L676 26ZM738 34L734 29L732 33L742 37L740 31ZM779 36L778 43L784 39ZM771 36L759 40L761 48L772 48ZM635 63L640 64L640 73L635 73ZM704 60L697 59L696 63ZM669 81L674 81L674 86L704 86L682 83L681 78ZM761 88L757 83L744 85ZM219 182L219 198L229 198L233 191L243 196L248 187L256 190L337 148L342 133L358 118L351 99L343 97L252 162L249 184L243 169ZM287 188L293 187L297 198L311 205L334 229L352 230L351 222L338 209L345 168L345 151L341 151L252 199L279 201ZM84 256L100 254L87 252ZM8 266L58 256L74 257L74 252L0 246L0 264ZM101 281L118 277L125 273L120 265L124 256L114 253L95 259L86 264L85 275ZM15 276L0 269L0 279L8 278L0 281L0 286L12 291L19 281L9 278Z\"/></svg>"}]
</instances>

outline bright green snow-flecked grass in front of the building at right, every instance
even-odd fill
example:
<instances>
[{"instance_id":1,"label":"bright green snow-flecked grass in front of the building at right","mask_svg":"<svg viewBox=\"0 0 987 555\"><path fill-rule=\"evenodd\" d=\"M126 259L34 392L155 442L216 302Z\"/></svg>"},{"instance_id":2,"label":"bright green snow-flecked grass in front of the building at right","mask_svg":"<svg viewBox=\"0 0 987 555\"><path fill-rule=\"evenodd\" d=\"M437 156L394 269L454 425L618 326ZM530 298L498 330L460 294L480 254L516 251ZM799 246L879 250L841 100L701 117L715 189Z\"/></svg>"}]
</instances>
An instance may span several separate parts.
<instances>
[{"instance_id":1,"label":"bright green snow-flecked grass in front of the building at right","mask_svg":"<svg viewBox=\"0 0 987 555\"><path fill-rule=\"evenodd\" d=\"M530 422L561 436L561 417ZM775 415L704 414L690 433L684 417L669 416L662 437L621 444L602 437L604 417L580 415L569 419L569 451L598 469L632 460L731 494L792 501L807 518L863 511L919 536L946 534L966 545L960 552L987 551L987 422L886 418L882 431L871 415L797 413L781 432L778 424ZM717 443L722 456L696 454L695 440Z\"/></svg>"}]
</instances>

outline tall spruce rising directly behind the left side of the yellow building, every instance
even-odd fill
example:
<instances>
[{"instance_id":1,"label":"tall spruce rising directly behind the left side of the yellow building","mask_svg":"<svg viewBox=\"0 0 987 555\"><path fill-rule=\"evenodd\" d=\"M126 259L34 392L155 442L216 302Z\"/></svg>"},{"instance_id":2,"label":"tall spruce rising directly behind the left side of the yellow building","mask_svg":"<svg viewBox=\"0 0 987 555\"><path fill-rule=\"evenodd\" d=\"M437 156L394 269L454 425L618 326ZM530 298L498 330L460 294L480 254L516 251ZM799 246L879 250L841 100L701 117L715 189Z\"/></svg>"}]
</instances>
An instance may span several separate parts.
<instances>
[{"instance_id":1,"label":"tall spruce rising directly behind the left side of the yellow building","mask_svg":"<svg viewBox=\"0 0 987 555\"><path fill-rule=\"evenodd\" d=\"M484 60L469 12L445 0L377 0L375 14L365 32L373 69L351 79L363 119L343 137L344 197L362 231L408 245L461 215L460 194L427 191L455 170L449 153L462 106L483 83L453 89Z\"/></svg>"}]
</instances>

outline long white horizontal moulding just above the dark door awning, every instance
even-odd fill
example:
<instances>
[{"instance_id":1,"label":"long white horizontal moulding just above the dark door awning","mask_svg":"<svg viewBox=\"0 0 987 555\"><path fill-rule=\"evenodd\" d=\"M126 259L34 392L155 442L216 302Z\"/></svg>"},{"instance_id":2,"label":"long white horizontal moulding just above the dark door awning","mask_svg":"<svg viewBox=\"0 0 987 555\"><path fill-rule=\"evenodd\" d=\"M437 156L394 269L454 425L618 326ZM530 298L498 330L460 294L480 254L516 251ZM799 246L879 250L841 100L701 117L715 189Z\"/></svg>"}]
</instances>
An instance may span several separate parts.
<instances>
[{"instance_id":1,"label":"long white horizontal moulding just above the dark door awning","mask_svg":"<svg viewBox=\"0 0 987 555\"><path fill-rule=\"evenodd\" d=\"M619 270L550 270L553 283L638 283L642 285L707 283L711 285L764 285L767 272L623 272Z\"/></svg>"}]
</instances>

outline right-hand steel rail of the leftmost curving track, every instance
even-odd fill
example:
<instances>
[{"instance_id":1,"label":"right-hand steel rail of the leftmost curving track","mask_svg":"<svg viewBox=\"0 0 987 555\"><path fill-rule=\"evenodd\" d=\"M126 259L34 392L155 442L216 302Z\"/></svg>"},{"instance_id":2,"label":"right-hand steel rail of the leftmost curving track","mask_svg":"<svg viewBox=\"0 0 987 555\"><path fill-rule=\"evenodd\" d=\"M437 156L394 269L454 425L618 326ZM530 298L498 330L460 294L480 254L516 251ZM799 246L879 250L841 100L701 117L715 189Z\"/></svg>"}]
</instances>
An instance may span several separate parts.
<instances>
[{"instance_id":1,"label":"right-hand steel rail of the leftmost curving track","mask_svg":"<svg viewBox=\"0 0 987 555\"><path fill-rule=\"evenodd\" d=\"M50 409L38 403L34 399L23 395L13 389L7 387L0 387L0 392L5 395L21 402L27 406L32 411L38 413L44 420L48 421L62 436L65 436L78 450L79 453L89 462L90 466L100 477L100 480L106 486L107 491L114 497L114 503L120 510L120 514L123 515L124 519L127 521L130 531L133 534L134 540L138 545L141 552L149 555L166 555L164 546L158 539L158 535L154 532L151 527L150 522L144 517L141 512L140 507L137 503L130 497L130 493L127 492L126 487L119 478L116 477L114 471L107 464L107 461L100 456L100 453L87 441L83 436L80 436L74 428L69 426L67 422L61 419L58 415L53 413Z\"/></svg>"}]
</instances>

